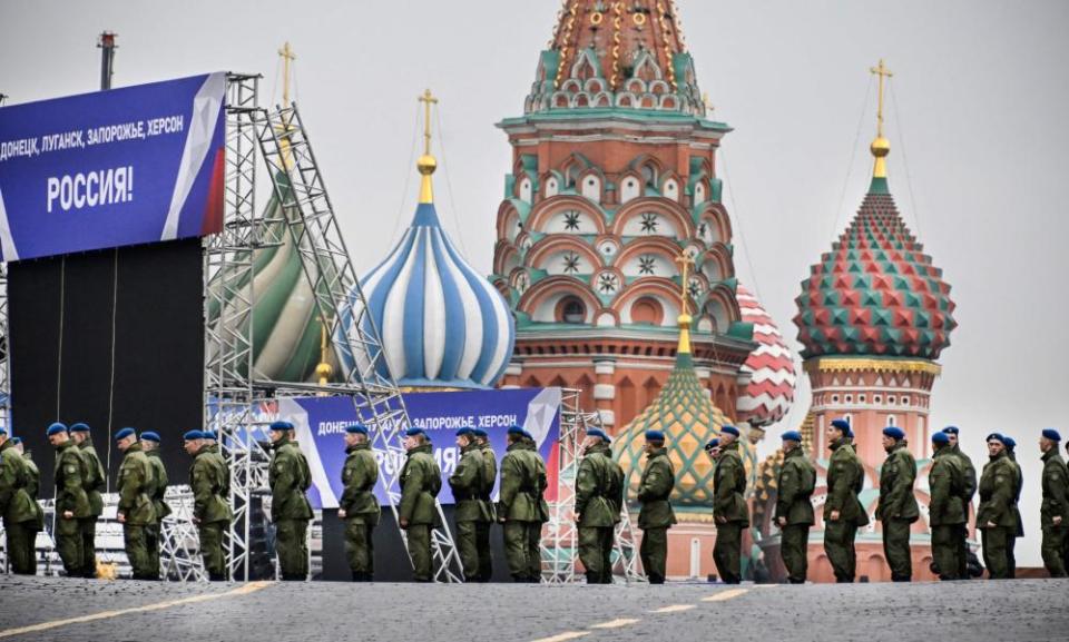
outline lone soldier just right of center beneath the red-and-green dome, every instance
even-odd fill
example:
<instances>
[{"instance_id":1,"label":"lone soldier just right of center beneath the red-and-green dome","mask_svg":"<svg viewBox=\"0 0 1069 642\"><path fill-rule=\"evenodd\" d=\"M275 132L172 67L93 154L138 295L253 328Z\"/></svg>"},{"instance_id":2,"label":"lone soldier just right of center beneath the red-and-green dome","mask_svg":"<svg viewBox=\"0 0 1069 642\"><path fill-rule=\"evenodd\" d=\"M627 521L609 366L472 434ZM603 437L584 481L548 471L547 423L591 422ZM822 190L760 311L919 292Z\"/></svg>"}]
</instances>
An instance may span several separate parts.
<instances>
[{"instance_id":1,"label":"lone soldier just right of center beneath the red-and-green dome","mask_svg":"<svg viewBox=\"0 0 1069 642\"><path fill-rule=\"evenodd\" d=\"M913 496L916 461L905 443L905 432L898 426L883 428L883 450L887 458L880 467L880 503L876 518L883 527L883 554L891 567L892 582L913 579L910 552L910 527L921 512Z\"/></svg>"}]
</instances>

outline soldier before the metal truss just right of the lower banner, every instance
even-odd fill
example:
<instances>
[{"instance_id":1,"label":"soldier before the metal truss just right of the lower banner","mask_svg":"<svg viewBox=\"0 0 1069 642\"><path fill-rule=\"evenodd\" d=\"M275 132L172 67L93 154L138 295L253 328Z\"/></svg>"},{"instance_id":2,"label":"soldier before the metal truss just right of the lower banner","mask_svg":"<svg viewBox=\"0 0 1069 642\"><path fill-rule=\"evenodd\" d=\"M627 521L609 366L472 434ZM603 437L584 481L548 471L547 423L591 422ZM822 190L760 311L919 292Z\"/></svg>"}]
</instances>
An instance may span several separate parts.
<instances>
[{"instance_id":1,"label":"soldier before the metal truss just right of the lower banner","mask_svg":"<svg viewBox=\"0 0 1069 642\"><path fill-rule=\"evenodd\" d=\"M579 561L587 584L612 583L612 540L624 501L624 470L612 461L609 436L587 431L576 475L576 526Z\"/></svg>"}]
</instances>

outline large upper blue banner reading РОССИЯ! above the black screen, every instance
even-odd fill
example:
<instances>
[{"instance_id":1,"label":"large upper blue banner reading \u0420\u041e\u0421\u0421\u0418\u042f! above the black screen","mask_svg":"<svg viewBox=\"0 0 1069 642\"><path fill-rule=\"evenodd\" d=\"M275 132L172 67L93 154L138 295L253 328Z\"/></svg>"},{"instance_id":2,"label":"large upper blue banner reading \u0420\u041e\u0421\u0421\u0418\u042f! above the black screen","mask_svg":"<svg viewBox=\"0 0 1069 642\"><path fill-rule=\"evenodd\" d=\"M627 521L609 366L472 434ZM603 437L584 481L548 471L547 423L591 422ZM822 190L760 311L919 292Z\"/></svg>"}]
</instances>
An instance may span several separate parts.
<instances>
[{"instance_id":1,"label":"large upper blue banner reading \u0420\u041e\u0421\u0421\u0418\u042f! above the black screen","mask_svg":"<svg viewBox=\"0 0 1069 642\"><path fill-rule=\"evenodd\" d=\"M226 75L0 109L0 259L223 226Z\"/></svg>"}]
</instances>

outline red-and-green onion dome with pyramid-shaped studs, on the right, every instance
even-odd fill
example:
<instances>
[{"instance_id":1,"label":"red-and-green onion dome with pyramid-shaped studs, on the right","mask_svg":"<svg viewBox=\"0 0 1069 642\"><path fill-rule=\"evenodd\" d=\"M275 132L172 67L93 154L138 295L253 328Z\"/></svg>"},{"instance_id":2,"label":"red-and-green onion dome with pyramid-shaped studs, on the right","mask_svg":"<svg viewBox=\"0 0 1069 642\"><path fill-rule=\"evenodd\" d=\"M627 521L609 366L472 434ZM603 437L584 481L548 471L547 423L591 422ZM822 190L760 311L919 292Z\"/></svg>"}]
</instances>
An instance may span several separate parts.
<instances>
[{"instance_id":1,"label":"red-and-green onion dome with pyramid-shaped studs, on the right","mask_svg":"<svg viewBox=\"0 0 1069 642\"><path fill-rule=\"evenodd\" d=\"M958 324L950 285L922 250L886 179L873 179L857 216L802 282L794 323L803 358L939 358Z\"/></svg>"}]
</instances>

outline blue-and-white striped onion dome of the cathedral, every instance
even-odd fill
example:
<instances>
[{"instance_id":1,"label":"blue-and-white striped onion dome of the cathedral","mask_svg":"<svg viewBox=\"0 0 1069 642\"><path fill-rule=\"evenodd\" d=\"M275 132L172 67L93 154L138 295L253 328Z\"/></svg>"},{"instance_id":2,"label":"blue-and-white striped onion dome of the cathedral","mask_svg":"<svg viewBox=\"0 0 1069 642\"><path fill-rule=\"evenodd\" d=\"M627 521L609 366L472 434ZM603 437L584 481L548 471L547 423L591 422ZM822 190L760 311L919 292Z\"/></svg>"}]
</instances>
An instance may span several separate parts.
<instances>
[{"instance_id":1,"label":"blue-and-white striped onion dome of the cathedral","mask_svg":"<svg viewBox=\"0 0 1069 642\"><path fill-rule=\"evenodd\" d=\"M401 243L360 284L399 386L489 388L504 374L512 313L450 243L433 203L420 203Z\"/></svg>"}]
</instances>

